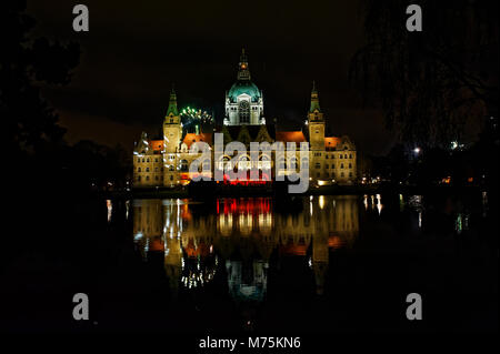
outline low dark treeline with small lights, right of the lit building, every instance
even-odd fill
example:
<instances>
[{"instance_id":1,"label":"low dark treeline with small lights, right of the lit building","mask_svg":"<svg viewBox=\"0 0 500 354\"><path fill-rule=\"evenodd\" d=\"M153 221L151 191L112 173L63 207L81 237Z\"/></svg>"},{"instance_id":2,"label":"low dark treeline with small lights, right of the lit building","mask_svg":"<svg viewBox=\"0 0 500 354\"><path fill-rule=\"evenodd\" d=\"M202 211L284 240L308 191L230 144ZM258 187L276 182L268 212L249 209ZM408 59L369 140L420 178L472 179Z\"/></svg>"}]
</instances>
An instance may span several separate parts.
<instances>
[{"instance_id":1,"label":"low dark treeline with small lights, right of the lit building","mask_svg":"<svg viewBox=\"0 0 500 354\"><path fill-rule=\"evenodd\" d=\"M470 145L418 146L396 144L382 156L359 158L360 176L403 185L481 186L498 194L500 134L497 118L487 118Z\"/></svg>"}]
</instances>

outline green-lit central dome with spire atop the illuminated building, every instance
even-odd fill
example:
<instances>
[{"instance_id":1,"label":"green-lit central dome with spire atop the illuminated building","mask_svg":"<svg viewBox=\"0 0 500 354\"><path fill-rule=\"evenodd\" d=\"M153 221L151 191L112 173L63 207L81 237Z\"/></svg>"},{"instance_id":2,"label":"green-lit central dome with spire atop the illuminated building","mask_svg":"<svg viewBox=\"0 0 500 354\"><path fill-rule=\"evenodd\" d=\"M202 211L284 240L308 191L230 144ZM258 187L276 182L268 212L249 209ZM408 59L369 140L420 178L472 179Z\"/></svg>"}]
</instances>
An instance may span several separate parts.
<instances>
[{"instance_id":1,"label":"green-lit central dome with spire atop the illuminated building","mask_svg":"<svg viewBox=\"0 0 500 354\"><path fill-rule=\"evenodd\" d=\"M238 63L237 82L226 92L226 117L224 125L266 124L263 117L262 91L250 81L250 69L248 67L244 49L241 50Z\"/></svg>"}]
</instances>

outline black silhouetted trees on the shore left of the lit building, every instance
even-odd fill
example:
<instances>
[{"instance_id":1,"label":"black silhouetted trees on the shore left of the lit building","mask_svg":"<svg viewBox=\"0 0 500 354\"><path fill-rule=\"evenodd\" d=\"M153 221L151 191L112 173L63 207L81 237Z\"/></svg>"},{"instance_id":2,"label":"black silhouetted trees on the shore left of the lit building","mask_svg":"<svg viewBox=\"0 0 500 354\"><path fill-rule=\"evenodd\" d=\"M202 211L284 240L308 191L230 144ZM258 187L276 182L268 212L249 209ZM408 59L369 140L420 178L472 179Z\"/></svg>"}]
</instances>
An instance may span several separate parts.
<instances>
[{"instance_id":1,"label":"black silhouetted trees on the shore left of the lit building","mask_svg":"<svg viewBox=\"0 0 500 354\"><path fill-rule=\"evenodd\" d=\"M26 1L7 1L1 12L0 112L9 152L4 185L19 192L69 192L124 185L130 165L121 146L64 141L58 115L40 92L42 84L68 84L80 58L77 43L32 38L34 19Z\"/></svg>"}]
</instances>

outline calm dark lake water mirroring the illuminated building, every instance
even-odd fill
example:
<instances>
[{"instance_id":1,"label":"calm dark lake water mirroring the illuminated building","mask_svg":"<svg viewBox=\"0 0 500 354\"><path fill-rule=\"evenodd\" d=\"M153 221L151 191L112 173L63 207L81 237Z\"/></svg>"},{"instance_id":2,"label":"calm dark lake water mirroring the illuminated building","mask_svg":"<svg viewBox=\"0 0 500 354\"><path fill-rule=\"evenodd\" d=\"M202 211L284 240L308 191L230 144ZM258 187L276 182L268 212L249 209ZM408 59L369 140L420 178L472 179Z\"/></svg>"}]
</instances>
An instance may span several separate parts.
<instances>
[{"instance_id":1,"label":"calm dark lake water mirroring the illuminated building","mask_svg":"<svg viewBox=\"0 0 500 354\"><path fill-rule=\"evenodd\" d=\"M202 335L498 331L498 213L488 198L58 203L39 218L53 231L33 233L4 272L2 325ZM69 315L78 292L90 297L86 323ZM413 292L423 299L420 322L406 318Z\"/></svg>"}]
</instances>

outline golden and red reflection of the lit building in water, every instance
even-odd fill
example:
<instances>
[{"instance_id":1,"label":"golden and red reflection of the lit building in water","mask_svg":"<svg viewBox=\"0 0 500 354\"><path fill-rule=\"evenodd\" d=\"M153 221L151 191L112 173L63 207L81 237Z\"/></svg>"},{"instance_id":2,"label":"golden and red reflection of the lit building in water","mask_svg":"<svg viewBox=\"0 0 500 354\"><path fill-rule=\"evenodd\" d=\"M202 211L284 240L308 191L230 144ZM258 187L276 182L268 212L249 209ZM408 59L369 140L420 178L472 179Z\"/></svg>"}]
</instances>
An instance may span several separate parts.
<instances>
[{"instance_id":1,"label":"golden and red reflection of the lit building in water","mask_svg":"<svg viewBox=\"0 0 500 354\"><path fill-rule=\"evenodd\" d=\"M269 198L220 199L212 211L188 200L136 200L133 239L144 260L163 253L174 294L221 273L236 302L260 302L273 252L309 263L322 294L330 252L358 236L358 202L354 195L310 196L297 200L293 213L279 213Z\"/></svg>"}]
</instances>

